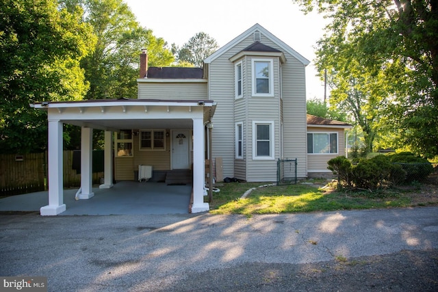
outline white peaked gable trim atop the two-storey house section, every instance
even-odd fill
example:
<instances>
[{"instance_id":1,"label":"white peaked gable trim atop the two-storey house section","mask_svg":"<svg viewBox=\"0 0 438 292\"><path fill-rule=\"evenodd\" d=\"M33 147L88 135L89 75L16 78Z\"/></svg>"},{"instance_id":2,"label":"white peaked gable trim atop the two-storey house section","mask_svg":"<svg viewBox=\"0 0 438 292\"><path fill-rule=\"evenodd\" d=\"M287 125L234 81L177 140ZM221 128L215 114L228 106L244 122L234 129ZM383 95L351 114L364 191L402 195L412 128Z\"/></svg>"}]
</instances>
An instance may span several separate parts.
<instances>
[{"instance_id":1,"label":"white peaked gable trim atop the two-storey house section","mask_svg":"<svg viewBox=\"0 0 438 292\"><path fill-rule=\"evenodd\" d=\"M279 47L281 47L281 49L283 49L284 52L287 52L290 55L296 57L296 59L298 59L303 65L305 65L305 66L309 65L310 62L308 59L306 59L305 57L303 57L302 55L297 53L294 49L292 49L287 44L285 44L285 42L283 42L282 40L280 40L279 38L277 38L276 36L271 34L269 31L267 31L264 27L262 27L258 23L256 23L255 25L253 25L253 27L250 27L249 29L244 31L242 34L240 34L240 36L237 36L236 38L231 40L231 42L225 44L224 47L218 49L218 51L209 55L209 57L204 59L204 62L206 64L213 62L215 59L220 57L220 55L222 55L223 53L227 52L229 49L234 47L237 43L242 42L242 40L244 40L245 38L248 38L248 36L251 36L252 34L254 34L255 31L261 32L261 34L263 34L263 36L270 39L272 42L275 42L276 44L278 44ZM252 45L255 45L255 44L252 44ZM268 46L266 46L266 47L268 47Z\"/></svg>"}]
</instances>

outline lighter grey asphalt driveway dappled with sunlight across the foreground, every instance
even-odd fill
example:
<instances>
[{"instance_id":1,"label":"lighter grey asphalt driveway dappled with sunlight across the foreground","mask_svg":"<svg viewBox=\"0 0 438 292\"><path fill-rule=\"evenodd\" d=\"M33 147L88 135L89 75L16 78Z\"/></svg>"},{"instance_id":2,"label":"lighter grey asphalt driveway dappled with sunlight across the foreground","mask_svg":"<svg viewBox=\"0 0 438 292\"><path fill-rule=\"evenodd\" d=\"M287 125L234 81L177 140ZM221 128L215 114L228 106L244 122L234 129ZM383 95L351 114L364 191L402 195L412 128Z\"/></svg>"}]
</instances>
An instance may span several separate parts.
<instances>
[{"instance_id":1,"label":"lighter grey asphalt driveway dappled with sunlight across the foreground","mask_svg":"<svg viewBox=\"0 0 438 292\"><path fill-rule=\"evenodd\" d=\"M270 286L272 274L251 280L266 283L258 288L239 283L266 265L292 272L291 265L438 249L438 207L0 220L0 276L47 276L49 291L296 291Z\"/></svg>"}]
</instances>

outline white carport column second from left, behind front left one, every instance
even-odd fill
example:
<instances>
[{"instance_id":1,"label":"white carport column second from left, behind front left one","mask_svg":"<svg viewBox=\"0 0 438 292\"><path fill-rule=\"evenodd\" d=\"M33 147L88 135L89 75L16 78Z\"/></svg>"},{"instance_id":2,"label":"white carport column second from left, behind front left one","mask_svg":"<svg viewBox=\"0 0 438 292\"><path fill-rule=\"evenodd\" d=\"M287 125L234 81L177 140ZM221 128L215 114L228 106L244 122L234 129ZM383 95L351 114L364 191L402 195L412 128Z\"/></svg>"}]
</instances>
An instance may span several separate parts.
<instances>
[{"instance_id":1,"label":"white carport column second from left, behind front left one","mask_svg":"<svg viewBox=\"0 0 438 292\"><path fill-rule=\"evenodd\" d=\"M92 140L93 129L81 128L81 191L79 199L89 199L94 196L92 191Z\"/></svg>"}]
</instances>

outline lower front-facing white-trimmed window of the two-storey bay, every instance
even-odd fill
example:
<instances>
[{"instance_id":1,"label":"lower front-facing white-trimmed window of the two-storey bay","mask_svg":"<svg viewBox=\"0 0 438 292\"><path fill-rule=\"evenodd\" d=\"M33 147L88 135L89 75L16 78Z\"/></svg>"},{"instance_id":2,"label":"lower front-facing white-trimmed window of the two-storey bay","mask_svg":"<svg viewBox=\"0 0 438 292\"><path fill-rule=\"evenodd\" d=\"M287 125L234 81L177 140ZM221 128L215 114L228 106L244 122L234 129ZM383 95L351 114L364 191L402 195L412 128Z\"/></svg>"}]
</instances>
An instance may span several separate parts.
<instances>
[{"instance_id":1,"label":"lower front-facing white-trimmed window of the two-storey bay","mask_svg":"<svg viewBox=\"0 0 438 292\"><path fill-rule=\"evenodd\" d=\"M274 159L274 122L253 121L253 159Z\"/></svg>"}]
</instances>

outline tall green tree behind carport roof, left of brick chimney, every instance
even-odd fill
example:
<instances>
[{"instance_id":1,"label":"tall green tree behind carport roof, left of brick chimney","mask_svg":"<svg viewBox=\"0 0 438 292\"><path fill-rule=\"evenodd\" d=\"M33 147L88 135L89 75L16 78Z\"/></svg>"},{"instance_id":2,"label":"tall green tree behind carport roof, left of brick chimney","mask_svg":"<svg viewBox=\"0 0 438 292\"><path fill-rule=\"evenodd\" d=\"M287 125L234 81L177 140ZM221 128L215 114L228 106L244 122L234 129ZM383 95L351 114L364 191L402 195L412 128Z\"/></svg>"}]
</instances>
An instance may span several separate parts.
<instances>
[{"instance_id":1,"label":"tall green tree behind carport roof, left of brick chimney","mask_svg":"<svg viewBox=\"0 0 438 292\"><path fill-rule=\"evenodd\" d=\"M122 0L82 1L85 21L98 38L94 53L81 63L90 81L87 98L136 98L140 49L148 50L149 66L168 66L174 57L166 42L140 27Z\"/></svg>"}]
</instances>

